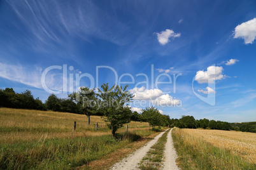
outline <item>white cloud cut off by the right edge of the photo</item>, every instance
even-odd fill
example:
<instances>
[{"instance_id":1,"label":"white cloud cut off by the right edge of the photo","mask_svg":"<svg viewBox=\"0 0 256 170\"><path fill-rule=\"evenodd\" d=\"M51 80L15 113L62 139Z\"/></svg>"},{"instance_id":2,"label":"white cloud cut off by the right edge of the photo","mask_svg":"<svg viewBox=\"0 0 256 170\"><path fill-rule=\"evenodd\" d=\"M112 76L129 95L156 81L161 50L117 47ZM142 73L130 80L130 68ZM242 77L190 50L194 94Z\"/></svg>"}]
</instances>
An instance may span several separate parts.
<instances>
[{"instance_id":1,"label":"white cloud cut off by the right edge of the photo","mask_svg":"<svg viewBox=\"0 0 256 170\"><path fill-rule=\"evenodd\" d=\"M256 18L236 26L234 38L243 38L245 44L252 44L256 37Z\"/></svg>"}]
</instances>

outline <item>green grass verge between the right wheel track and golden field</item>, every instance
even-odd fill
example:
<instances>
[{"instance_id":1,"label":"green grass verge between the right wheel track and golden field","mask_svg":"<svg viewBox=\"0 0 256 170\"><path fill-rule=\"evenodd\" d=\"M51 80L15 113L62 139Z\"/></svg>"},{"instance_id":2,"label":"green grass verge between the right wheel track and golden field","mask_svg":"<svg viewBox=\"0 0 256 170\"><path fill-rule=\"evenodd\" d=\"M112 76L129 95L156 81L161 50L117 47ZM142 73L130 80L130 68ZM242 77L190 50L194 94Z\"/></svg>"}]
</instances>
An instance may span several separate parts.
<instances>
[{"instance_id":1,"label":"green grass verge between the right wheel track and golden field","mask_svg":"<svg viewBox=\"0 0 256 170\"><path fill-rule=\"evenodd\" d=\"M255 163L229 149L215 147L183 129L175 128L172 135L182 169L255 169Z\"/></svg>"}]
</instances>

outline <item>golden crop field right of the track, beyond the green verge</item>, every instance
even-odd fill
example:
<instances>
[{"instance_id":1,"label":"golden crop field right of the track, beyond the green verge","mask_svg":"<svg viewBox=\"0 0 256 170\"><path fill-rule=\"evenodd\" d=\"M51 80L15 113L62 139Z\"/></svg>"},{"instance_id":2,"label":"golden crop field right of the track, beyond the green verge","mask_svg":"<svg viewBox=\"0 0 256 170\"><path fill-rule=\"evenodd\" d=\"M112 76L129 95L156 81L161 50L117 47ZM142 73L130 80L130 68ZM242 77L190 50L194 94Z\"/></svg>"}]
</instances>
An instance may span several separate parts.
<instances>
[{"instance_id":1,"label":"golden crop field right of the track, beyond the green verge","mask_svg":"<svg viewBox=\"0 0 256 170\"><path fill-rule=\"evenodd\" d=\"M248 162L256 160L256 134L238 131L207 129L181 129L187 134L201 138L211 145L230 150L232 154L245 158Z\"/></svg>"}]
</instances>

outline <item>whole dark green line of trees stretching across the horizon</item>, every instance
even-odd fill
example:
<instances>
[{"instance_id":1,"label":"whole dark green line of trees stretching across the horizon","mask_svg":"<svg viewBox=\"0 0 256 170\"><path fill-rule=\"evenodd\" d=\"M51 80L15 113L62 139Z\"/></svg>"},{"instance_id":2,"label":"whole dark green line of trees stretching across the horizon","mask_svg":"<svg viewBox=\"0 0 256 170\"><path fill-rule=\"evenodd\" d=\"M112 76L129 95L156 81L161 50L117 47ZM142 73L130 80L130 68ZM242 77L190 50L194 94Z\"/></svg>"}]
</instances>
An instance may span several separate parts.
<instances>
[{"instance_id":1,"label":"whole dark green line of trees stretching across the horizon","mask_svg":"<svg viewBox=\"0 0 256 170\"><path fill-rule=\"evenodd\" d=\"M155 107L142 109L141 114L132 112L127 105L132 101L132 94L127 86L101 85L101 89L82 87L78 92L68 95L68 98L58 98L54 94L48 96L45 103L34 98L31 91L15 93L13 88L0 89L0 107L26 108L35 110L53 110L56 112L70 112L87 115L90 124L90 115L101 115L115 136L117 129L130 121L148 122L149 129L156 126L171 126L178 128L203 128L248 131L256 133L256 122L234 124L229 122L208 119L196 120L193 116L183 115L180 119L170 119L169 115L160 114Z\"/></svg>"}]
</instances>

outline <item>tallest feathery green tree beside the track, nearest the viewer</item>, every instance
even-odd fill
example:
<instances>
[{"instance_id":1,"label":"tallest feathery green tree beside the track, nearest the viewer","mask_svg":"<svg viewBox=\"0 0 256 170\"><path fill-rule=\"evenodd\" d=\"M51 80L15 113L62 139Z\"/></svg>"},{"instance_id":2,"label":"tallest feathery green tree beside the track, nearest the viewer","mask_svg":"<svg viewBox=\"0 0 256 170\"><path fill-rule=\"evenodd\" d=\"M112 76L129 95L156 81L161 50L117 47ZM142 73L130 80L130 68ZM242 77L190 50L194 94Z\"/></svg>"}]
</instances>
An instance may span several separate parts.
<instances>
[{"instance_id":1,"label":"tallest feathery green tree beside the track, nearest the viewer","mask_svg":"<svg viewBox=\"0 0 256 170\"><path fill-rule=\"evenodd\" d=\"M104 111L104 121L109 122L108 128L111 129L112 136L116 136L117 129L130 122L131 109L125 103L132 101L132 95L125 86L109 87L108 83L101 85L98 89L101 98L101 108Z\"/></svg>"}]
</instances>

